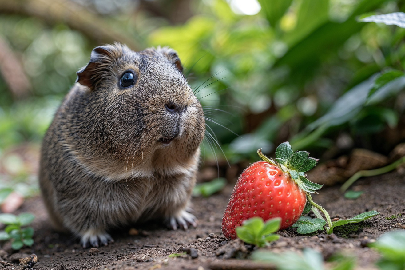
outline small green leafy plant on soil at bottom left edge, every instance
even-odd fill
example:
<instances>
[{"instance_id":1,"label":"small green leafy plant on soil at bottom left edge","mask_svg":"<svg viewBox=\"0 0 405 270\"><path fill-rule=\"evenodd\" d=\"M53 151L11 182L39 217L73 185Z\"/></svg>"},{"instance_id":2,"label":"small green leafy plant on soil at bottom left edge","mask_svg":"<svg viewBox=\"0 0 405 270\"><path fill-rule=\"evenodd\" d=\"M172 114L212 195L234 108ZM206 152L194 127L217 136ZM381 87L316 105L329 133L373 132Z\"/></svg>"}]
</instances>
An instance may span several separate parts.
<instances>
[{"instance_id":1,"label":"small green leafy plant on soil at bottom left edge","mask_svg":"<svg viewBox=\"0 0 405 270\"><path fill-rule=\"evenodd\" d=\"M0 240L11 240L11 247L15 250L21 249L24 245L31 247L34 244L32 239L34 229L24 226L29 225L34 218L34 215L29 213L23 213L19 216L0 214L0 223L7 225L4 231L0 232Z\"/></svg>"}]
</instances>

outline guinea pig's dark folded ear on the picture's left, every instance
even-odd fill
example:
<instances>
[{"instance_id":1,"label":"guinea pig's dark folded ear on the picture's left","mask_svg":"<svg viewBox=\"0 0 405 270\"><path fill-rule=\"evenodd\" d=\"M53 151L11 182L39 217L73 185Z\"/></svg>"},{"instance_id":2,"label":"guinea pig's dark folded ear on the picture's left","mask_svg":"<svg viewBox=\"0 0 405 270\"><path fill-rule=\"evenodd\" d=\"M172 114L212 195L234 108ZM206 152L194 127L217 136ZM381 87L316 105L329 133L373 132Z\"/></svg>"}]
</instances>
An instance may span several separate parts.
<instances>
[{"instance_id":1,"label":"guinea pig's dark folded ear on the picture's left","mask_svg":"<svg viewBox=\"0 0 405 270\"><path fill-rule=\"evenodd\" d=\"M98 46L93 49L90 55L90 61L87 66L81 68L77 74L76 82L81 85L85 85L92 89L94 82L98 76L96 76L97 67L105 62L106 59L111 59L112 50L111 45Z\"/></svg>"}]
</instances>

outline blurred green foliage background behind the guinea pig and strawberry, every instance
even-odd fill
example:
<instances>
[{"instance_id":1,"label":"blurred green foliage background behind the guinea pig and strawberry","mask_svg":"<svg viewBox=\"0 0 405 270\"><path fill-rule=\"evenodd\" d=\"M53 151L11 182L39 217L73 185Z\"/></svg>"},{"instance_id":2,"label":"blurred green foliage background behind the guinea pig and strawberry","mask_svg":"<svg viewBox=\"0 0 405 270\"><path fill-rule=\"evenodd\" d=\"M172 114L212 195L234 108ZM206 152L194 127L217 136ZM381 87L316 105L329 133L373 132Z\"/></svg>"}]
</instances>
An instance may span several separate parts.
<instances>
[{"instance_id":1,"label":"blurred green foliage background behind the guinea pig and strawberry","mask_svg":"<svg viewBox=\"0 0 405 270\"><path fill-rule=\"evenodd\" d=\"M405 139L405 29L356 19L396 11L405 1L0 0L0 177L36 171L77 70L113 41L178 51L207 117L206 164L286 140L323 160L387 154Z\"/></svg>"}]
</instances>

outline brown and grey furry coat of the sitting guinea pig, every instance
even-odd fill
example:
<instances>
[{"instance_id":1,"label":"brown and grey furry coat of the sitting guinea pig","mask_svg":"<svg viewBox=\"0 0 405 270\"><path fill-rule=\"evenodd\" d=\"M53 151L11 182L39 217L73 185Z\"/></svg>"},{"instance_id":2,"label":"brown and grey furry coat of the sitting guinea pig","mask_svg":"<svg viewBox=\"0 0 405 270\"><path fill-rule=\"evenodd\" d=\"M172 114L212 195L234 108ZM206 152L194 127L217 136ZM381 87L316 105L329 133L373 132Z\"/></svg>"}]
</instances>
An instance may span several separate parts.
<instances>
[{"instance_id":1,"label":"brown and grey furry coat of the sitting guinea pig","mask_svg":"<svg viewBox=\"0 0 405 270\"><path fill-rule=\"evenodd\" d=\"M127 70L136 81L122 89ZM56 229L98 246L112 241L109 230L136 221L196 225L187 207L205 121L182 70L166 47L92 51L43 140L40 187Z\"/></svg>"}]
</instances>

